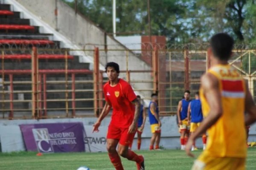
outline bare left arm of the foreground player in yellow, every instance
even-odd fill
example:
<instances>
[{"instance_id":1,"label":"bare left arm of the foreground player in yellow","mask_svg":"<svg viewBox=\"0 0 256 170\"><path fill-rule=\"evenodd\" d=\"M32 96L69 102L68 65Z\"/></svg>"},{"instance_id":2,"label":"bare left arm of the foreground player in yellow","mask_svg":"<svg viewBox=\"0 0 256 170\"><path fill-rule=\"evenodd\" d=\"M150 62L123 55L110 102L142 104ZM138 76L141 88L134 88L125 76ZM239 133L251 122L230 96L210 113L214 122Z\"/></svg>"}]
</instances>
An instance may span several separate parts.
<instances>
[{"instance_id":1,"label":"bare left arm of the foreground player in yellow","mask_svg":"<svg viewBox=\"0 0 256 170\"><path fill-rule=\"evenodd\" d=\"M186 153L189 156L194 156L191 153L191 147L193 141L205 133L206 130L211 127L222 115L222 104L221 104L221 92L219 91L218 79L212 74L205 74L201 78L201 86L204 91L204 96L209 103L210 111L208 115L204 118L201 125L195 130L195 132L189 137L189 140L186 144Z\"/></svg>"}]
</instances>

